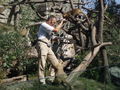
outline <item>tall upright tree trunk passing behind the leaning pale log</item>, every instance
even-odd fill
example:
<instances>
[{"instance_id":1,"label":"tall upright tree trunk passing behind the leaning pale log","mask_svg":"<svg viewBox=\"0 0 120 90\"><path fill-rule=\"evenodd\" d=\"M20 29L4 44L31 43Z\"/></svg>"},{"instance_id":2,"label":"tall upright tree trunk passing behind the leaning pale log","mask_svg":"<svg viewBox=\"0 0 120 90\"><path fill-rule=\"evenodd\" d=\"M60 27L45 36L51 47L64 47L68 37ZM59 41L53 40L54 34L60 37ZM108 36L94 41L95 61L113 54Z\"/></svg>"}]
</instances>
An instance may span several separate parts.
<instances>
[{"instance_id":1,"label":"tall upright tree trunk passing behind the leaning pale log","mask_svg":"<svg viewBox=\"0 0 120 90\"><path fill-rule=\"evenodd\" d=\"M99 36L99 42L103 42L103 24L104 24L104 0L99 0L98 1L99 2L99 4L100 4L100 16L99 16L99 27L98 27L98 36ZM106 52L106 49L105 49L105 47L103 47L103 48L101 48L101 57L103 57L102 58L102 60L103 60L103 65L104 66L109 66L109 64L108 64L108 58L107 58L107 52ZM108 72L108 67L105 67L105 69L104 69L104 73L103 73L104 75L104 82L109 82L109 72ZM103 77L102 77L103 78Z\"/></svg>"}]
</instances>

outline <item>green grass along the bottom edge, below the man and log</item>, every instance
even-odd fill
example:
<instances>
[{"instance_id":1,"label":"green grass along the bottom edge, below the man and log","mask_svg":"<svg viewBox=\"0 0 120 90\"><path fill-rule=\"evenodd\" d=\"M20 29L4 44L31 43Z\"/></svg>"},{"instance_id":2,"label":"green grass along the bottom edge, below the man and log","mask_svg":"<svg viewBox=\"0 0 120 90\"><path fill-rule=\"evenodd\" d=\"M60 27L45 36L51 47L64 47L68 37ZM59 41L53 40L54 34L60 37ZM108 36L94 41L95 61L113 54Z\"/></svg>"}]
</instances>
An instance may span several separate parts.
<instances>
[{"instance_id":1,"label":"green grass along the bottom edge, below the man and log","mask_svg":"<svg viewBox=\"0 0 120 90\"><path fill-rule=\"evenodd\" d=\"M72 83L72 90L120 90L120 87L114 85L105 85L94 80L79 78ZM41 85L38 80L30 80L27 82L19 82L12 84L4 84L0 86L0 90L69 90L65 85L54 85L49 83Z\"/></svg>"}]
</instances>

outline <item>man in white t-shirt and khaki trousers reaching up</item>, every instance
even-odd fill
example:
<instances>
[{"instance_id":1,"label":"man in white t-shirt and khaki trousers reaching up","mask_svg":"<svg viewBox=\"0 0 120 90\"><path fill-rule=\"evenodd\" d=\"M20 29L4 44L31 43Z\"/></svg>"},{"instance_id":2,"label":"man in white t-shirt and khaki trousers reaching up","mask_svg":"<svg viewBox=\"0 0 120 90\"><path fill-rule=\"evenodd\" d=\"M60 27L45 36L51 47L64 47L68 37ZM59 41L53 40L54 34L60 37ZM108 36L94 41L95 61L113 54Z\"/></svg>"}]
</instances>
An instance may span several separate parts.
<instances>
[{"instance_id":1,"label":"man in white t-shirt and khaki trousers reaching up","mask_svg":"<svg viewBox=\"0 0 120 90\"><path fill-rule=\"evenodd\" d=\"M50 39L51 33L58 32L61 29L64 21L65 20L62 19L61 22L56 27L54 27L57 20L55 16L51 15L48 17L46 22L43 22L39 27L39 31L37 33L37 51L39 57L38 76L42 84L46 84L44 75L46 60L49 60L55 69L57 69L60 64L59 60L56 58L54 52L51 49Z\"/></svg>"}]
</instances>

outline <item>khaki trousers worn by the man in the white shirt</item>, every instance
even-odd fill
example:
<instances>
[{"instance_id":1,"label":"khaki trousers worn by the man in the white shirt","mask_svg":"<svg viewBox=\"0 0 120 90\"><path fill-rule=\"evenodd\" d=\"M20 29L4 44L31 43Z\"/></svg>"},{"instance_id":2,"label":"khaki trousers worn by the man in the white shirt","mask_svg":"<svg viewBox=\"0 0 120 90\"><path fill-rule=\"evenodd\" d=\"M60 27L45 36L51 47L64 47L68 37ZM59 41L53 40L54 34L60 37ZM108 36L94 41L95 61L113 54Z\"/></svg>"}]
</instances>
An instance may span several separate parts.
<instances>
[{"instance_id":1,"label":"khaki trousers worn by the man in the white shirt","mask_svg":"<svg viewBox=\"0 0 120 90\"><path fill-rule=\"evenodd\" d=\"M43 41L50 43L48 39L43 39ZM50 47L47 46L46 43L38 41L37 43L37 51L38 51L38 57L39 57L39 70L38 70L38 76L40 79L40 82L45 84L45 64L46 60L49 60L50 63L52 63L53 67L57 67L59 64L58 59L56 58L54 52ZM51 76L55 76L54 70L52 69Z\"/></svg>"}]
</instances>

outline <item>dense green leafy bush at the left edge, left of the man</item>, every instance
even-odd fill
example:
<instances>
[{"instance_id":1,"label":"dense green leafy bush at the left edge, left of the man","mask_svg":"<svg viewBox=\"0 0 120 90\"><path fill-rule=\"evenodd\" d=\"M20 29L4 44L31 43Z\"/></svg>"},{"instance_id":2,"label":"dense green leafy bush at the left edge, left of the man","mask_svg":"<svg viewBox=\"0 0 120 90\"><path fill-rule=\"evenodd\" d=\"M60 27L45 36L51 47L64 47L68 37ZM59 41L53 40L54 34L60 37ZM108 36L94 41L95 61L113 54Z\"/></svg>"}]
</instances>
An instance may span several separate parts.
<instances>
[{"instance_id":1,"label":"dense green leafy bush at the left edge, left of the man","mask_svg":"<svg viewBox=\"0 0 120 90\"><path fill-rule=\"evenodd\" d=\"M3 60L2 67L13 67L13 61L25 60L25 38L17 32L4 32L0 34L0 57Z\"/></svg>"}]
</instances>

